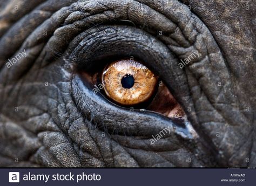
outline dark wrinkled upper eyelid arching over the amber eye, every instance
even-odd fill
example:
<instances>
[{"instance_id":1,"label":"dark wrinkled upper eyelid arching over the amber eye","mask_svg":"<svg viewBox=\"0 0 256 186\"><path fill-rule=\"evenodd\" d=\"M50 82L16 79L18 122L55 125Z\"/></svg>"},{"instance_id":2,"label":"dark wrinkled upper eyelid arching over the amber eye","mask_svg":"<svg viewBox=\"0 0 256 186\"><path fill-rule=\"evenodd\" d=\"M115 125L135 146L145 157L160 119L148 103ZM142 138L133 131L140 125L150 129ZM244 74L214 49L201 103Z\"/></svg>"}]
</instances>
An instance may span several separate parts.
<instances>
[{"instance_id":1,"label":"dark wrinkled upper eyelid arching over the amber eye","mask_svg":"<svg viewBox=\"0 0 256 186\"><path fill-rule=\"evenodd\" d=\"M134 27L113 25L89 29L79 37L83 39L70 53L71 60L77 57L73 62L77 64L78 70L92 74L98 68L103 69L114 58L138 58L165 82L172 93L184 98L180 85L184 85L186 79L181 76L184 72L177 65L178 59L153 36Z\"/></svg>"}]
</instances>

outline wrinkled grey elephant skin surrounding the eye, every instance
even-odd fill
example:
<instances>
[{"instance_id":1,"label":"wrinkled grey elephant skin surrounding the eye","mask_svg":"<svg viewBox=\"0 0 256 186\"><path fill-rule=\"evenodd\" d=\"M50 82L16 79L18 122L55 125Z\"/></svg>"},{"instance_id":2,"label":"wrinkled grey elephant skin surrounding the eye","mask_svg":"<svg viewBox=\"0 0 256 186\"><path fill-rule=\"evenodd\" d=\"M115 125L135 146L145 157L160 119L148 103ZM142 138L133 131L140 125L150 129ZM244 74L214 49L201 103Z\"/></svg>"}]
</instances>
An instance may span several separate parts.
<instances>
[{"instance_id":1,"label":"wrinkled grey elephant skin surrounding the eye","mask_svg":"<svg viewBox=\"0 0 256 186\"><path fill-rule=\"evenodd\" d=\"M0 166L255 167L255 12L252 0L2 0ZM78 61L96 70L116 54L143 59L191 125L94 94Z\"/></svg>"}]
</instances>

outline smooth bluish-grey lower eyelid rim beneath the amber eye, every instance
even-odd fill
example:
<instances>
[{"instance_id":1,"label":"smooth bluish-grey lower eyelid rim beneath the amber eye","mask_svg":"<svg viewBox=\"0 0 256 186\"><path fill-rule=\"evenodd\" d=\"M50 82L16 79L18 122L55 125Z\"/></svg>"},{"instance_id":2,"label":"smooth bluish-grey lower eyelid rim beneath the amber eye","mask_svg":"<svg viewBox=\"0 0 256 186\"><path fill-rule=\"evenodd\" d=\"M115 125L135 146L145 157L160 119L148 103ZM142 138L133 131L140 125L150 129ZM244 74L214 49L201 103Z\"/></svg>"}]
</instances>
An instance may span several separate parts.
<instances>
[{"instance_id":1,"label":"smooth bluish-grey lower eyelid rim beneath the amber eye","mask_svg":"<svg viewBox=\"0 0 256 186\"><path fill-rule=\"evenodd\" d=\"M97 123L99 129L108 130L111 134L120 132L122 135L150 137L166 126L170 126L170 128L176 126L172 120L153 112L136 111L109 104L107 100L84 86L78 75L73 77L71 85L74 101L85 119ZM100 123L98 123L98 118L102 119ZM176 126L175 130L182 130L182 133L190 136L183 124L181 126L181 128Z\"/></svg>"}]
</instances>

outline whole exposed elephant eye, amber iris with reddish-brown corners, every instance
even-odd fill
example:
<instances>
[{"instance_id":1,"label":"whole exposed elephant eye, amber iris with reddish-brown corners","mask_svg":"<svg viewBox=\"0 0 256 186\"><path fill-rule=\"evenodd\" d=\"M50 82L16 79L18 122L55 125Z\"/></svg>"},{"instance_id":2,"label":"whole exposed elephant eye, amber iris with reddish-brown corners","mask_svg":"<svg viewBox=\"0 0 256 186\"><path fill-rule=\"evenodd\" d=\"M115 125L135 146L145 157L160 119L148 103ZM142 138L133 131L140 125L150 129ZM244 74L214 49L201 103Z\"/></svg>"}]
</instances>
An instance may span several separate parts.
<instances>
[{"instance_id":1,"label":"whole exposed elephant eye, amber iris with reddish-brown corners","mask_svg":"<svg viewBox=\"0 0 256 186\"><path fill-rule=\"evenodd\" d=\"M86 85L91 86L93 93L102 95L106 100L123 108L145 109L184 121L185 112L169 88L139 60L112 60L101 69L91 73L86 70L79 71L83 81L89 83Z\"/></svg>"}]
</instances>

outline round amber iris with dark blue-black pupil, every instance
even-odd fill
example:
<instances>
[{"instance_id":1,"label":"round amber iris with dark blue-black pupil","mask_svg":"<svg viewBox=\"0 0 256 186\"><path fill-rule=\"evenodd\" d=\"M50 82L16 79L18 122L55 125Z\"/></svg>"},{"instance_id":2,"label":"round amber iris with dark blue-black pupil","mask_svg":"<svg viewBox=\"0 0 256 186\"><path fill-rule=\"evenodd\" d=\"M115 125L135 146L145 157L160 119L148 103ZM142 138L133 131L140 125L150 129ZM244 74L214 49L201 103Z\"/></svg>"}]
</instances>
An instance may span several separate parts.
<instances>
[{"instance_id":1,"label":"round amber iris with dark blue-black pupil","mask_svg":"<svg viewBox=\"0 0 256 186\"><path fill-rule=\"evenodd\" d=\"M102 81L109 98L118 104L136 105L152 97L158 80L143 64L123 59L105 68Z\"/></svg>"}]
</instances>

